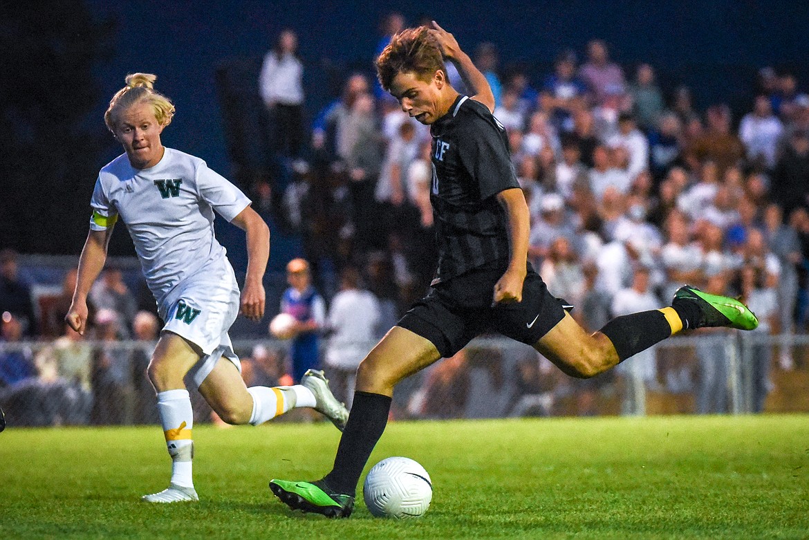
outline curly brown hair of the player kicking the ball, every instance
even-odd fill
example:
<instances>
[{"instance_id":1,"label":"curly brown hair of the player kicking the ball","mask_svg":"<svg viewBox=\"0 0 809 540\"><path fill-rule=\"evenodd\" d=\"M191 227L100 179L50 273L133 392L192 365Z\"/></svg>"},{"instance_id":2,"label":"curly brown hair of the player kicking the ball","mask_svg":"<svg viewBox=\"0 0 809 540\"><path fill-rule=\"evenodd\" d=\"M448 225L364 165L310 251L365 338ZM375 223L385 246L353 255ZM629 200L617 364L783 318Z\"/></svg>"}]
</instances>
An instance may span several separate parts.
<instances>
[{"instance_id":1,"label":"curly brown hair of the player kicking the ball","mask_svg":"<svg viewBox=\"0 0 809 540\"><path fill-rule=\"evenodd\" d=\"M376 59L376 74L386 91L390 91L396 74L413 73L429 81L438 70L447 74L441 48L425 26L406 28L393 36Z\"/></svg>"}]
</instances>

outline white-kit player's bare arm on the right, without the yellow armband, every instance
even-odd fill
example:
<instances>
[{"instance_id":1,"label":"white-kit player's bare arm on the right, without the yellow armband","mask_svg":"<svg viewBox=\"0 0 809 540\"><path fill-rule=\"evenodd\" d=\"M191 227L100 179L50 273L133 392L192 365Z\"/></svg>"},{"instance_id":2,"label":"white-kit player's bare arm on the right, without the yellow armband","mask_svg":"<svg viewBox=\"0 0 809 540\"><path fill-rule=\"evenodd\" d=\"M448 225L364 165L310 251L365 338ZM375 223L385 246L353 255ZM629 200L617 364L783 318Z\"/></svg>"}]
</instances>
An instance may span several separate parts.
<instances>
[{"instance_id":1,"label":"white-kit player's bare arm on the right, without the yellow armband","mask_svg":"<svg viewBox=\"0 0 809 540\"><path fill-rule=\"evenodd\" d=\"M263 278L269 259L269 227L249 206L239 212L232 223L244 230L248 244L248 271L239 310L248 319L257 321L264 316L265 309Z\"/></svg>"}]
</instances>

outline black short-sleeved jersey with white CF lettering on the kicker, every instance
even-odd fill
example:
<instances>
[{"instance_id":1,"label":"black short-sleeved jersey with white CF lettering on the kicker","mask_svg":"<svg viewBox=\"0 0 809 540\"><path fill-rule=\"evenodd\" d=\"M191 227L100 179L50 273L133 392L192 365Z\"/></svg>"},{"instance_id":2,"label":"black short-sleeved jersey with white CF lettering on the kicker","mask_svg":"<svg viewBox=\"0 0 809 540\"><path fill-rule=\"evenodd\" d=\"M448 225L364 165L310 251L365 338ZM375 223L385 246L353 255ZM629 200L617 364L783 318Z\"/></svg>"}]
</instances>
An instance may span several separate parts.
<instances>
[{"instance_id":1,"label":"black short-sleeved jersey with white CF lettering on the kicker","mask_svg":"<svg viewBox=\"0 0 809 540\"><path fill-rule=\"evenodd\" d=\"M497 195L519 188L506 130L489 108L459 95L430 127L438 269L433 285L475 268L506 268L508 218Z\"/></svg>"}]
</instances>

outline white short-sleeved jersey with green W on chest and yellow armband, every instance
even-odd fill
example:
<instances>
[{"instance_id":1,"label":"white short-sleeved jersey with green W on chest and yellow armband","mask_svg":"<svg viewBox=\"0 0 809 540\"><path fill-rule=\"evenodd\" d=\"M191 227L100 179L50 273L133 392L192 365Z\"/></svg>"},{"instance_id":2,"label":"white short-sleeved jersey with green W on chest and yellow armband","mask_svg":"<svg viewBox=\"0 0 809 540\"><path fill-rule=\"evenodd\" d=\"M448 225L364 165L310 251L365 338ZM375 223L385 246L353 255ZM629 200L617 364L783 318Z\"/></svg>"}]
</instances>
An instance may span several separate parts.
<instances>
[{"instance_id":1,"label":"white short-sleeved jersey with green W on chest and yellow armband","mask_svg":"<svg viewBox=\"0 0 809 540\"><path fill-rule=\"evenodd\" d=\"M120 217L158 304L177 284L207 268L229 265L214 237L214 210L232 221L250 200L203 160L166 148L148 169L126 154L101 169L91 199L91 230Z\"/></svg>"}]
</instances>

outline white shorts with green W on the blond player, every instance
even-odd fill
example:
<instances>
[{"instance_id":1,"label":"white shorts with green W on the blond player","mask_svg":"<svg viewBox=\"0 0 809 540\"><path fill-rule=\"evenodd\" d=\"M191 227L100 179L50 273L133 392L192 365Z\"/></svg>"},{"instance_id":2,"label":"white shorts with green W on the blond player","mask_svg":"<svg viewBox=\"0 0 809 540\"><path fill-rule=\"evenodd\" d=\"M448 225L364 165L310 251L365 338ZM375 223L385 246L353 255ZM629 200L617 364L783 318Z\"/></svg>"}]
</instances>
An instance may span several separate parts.
<instances>
[{"instance_id":1,"label":"white shorts with green W on the blond player","mask_svg":"<svg viewBox=\"0 0 809 540\"><path fill-rule=\"evenodd\" d=\"M227 331L239 314L239 285L230 264L177 285L159 306L166 321L163 331L180 335L201 349L203 356L191 369L199 387L219 358L225 357L239 369L239 356Z\"/></svg>"}]
</instances>

